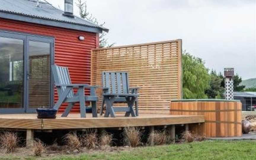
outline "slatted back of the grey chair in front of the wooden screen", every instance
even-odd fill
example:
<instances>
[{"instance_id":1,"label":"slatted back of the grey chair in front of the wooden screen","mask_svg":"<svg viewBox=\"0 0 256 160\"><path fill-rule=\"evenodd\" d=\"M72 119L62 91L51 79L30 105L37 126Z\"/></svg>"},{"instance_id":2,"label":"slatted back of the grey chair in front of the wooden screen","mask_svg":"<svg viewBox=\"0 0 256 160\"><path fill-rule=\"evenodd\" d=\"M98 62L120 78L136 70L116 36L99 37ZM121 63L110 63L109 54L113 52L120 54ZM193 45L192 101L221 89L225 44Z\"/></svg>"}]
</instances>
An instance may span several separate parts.
<instances>
[{"instance_id":1,"label":"slatted back of the grey chair in front of the wooden screen","mask_svg":"<svg viewBox=\"0 0 256 160\"><path fill-rule=\"evenodd\" d=\"M102 72L103 88L109 88L105 93L128 94L128 76L127 72Z\"/></svg>"}]
</instances>

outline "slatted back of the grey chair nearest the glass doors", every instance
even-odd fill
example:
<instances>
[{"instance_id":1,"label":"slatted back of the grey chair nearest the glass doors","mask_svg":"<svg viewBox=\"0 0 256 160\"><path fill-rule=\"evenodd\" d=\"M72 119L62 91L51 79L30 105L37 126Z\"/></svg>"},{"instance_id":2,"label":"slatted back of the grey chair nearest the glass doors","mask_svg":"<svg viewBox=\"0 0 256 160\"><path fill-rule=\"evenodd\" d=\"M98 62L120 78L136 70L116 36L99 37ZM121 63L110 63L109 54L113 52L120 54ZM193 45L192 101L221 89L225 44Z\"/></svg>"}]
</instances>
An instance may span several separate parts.
<instances>
[{"instance_id":1,"label":"slatted back of the grey chair nearest the glass doors","mask_svg":"<svg viewBox=\"0 0 256 160\"><path fill-rule=\"evenodd\" d=\"M55 84L71 84L68 67L61 67L61 66L54 65L52 66L52 71L54 72L53 78L54 78ZM61 90L57 90L59 95L65 91L66 86L61 86L60 88ZM73 89L71 89L71 91L68 93L67 98L74 97L74 95L75 95L74 91Z\"/></svg>"}]
</instances>

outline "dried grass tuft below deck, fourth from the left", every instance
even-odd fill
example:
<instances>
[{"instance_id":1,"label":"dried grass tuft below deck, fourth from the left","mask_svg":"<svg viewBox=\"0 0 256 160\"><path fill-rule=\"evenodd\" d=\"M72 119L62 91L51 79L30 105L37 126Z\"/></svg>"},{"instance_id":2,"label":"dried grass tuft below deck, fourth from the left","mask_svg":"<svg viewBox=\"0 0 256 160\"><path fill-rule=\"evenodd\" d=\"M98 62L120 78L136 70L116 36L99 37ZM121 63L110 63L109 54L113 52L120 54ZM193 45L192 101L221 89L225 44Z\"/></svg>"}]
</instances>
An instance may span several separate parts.
<instances>
[{"instance_id":1,"label":"dried grass tuft below deck, fourth from the left","mask_svg":"<svg viewBox=\"0 0 256 160\"><path fill-rule=\"evenodd\" d=\"M80 137L82 147L86 147L87 149L96 148L99 144L97 131L96 130L87 130Z\"/></svg>"}]
</instances>

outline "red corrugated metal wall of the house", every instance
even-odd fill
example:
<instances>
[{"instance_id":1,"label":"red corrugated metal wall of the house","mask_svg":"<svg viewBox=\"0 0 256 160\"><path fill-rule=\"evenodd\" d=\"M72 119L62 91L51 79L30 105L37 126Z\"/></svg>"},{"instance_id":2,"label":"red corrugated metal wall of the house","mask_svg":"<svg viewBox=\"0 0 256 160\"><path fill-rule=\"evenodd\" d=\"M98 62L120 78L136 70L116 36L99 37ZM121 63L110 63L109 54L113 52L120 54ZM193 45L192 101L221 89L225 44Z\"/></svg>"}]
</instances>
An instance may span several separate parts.
<instances>
[{"instance_id":1,"label":"red corrugated metal wall of the house","mask_svg":"<svg viewBox=\"0 0 256 160\"><path fill-rule=\"evenodd\" d=\"M90 84L91 49L98 47L98 38L95 33L3 18L0 18L0 30L55 37L55 64L68 67L72 83ZM85 37L84 41L78 40L80 35ZM88 93L89 91L87 90L86 94ZM57 92L55 90L56 100ZM63 112L65 107L66 104L59 111ZM76 105L72 112L79 112L79 105Z\"/></svg>"}]
</instances>

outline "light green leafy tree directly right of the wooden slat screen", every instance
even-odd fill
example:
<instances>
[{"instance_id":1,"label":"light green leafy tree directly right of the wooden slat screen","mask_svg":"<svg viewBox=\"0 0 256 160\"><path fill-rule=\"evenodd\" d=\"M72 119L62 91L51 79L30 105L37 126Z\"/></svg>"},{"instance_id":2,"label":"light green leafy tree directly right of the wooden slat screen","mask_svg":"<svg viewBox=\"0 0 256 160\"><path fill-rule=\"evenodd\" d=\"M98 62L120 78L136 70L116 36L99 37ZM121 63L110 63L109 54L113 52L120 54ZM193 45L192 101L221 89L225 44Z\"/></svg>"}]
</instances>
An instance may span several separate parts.
<instances>
[{"instance_id":1,"label":"light green leafy tree directly right of the wooden slat screen","mask_svg":"<svg viewBox=\"0 0 256 160\"><path fill-rule=\"evenodd\" d=\"M208 69L204 66L204 61L184 51L182 55L182 68L183 98L207 98L205 90L210 87L210 76Z\"/></svg>"}]
</instances>

